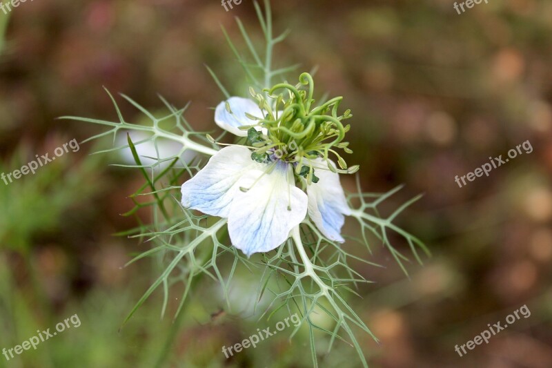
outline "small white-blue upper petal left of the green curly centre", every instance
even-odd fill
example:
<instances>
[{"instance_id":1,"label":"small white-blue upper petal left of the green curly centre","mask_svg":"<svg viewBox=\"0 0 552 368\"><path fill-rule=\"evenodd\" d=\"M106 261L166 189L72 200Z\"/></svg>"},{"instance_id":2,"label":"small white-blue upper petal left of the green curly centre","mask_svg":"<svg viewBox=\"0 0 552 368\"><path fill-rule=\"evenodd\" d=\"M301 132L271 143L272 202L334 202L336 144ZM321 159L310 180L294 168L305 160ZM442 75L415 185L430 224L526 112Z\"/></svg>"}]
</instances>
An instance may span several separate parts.
<instances>
[{"instance_id":1,"label":"small white-blue upper petal left of the green curly centre","mask_svg":"<svg viewBox=\"0 0 552 368\"><path fill-rule=\"evenodd\" d=\"M227 102L230 105L231 114L226 110ZM263 117L261 109L252 100L242 97L230 97L217 106L215 110L215 123L224 130L228 130L230 133L238 135L239 137L247 137L247 130L239 130L238 127L254 125L257 124L257 122L249 119L246 113L255 117ZM260 128L256 129L260 130Z\"/></svg>"}]
</instances>

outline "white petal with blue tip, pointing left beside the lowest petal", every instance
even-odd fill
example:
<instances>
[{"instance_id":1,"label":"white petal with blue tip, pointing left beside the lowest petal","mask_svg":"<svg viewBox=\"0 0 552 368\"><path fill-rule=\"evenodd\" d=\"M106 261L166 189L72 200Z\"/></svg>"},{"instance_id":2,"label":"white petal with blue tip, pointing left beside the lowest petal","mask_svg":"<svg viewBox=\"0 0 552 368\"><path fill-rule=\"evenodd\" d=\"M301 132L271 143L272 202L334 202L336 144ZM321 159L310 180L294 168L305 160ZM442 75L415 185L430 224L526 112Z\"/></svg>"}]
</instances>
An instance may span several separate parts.
<instances>
[{"instance_id":1,"label":"white petal with blue tip, pointing left beside the lowest petal","mask_svg":"<svg viewBox=\"0 0 552 368\"><path fill-rule=\"evenodd\" d=\"M182 205L207 215L228 217L237 182L248 171L263 168L245 147L222 148L204 168L182 184Z\"/></svg>"}]
</instances>

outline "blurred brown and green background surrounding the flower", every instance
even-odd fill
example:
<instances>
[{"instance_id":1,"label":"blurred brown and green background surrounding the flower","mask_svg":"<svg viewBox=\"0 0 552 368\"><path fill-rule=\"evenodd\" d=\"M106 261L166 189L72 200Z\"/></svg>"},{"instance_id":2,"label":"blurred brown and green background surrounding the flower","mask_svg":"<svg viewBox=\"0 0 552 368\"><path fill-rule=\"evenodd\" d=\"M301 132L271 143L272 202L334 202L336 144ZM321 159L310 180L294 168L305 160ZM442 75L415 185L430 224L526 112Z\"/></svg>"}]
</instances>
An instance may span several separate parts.
<instances>
[{"instance_id":1,"label":"blurred brown and green background surrounding the flower","mask_svg":"<svg viewBox=\"0 0 552 368\"><path fill-rule=\"evenodd\" d=\"M404 184L389 211L424 193L397 221L432 257L408 264L408 278L374 244L369 260L385 268L356 265L373 283L349 302L382 340L359 333L371 367L552 367L552 2L491 0L457 14L451 0L279 0L273 12L277 33L292 30L276 66L300 63L288 76L294 82L318 66L319 92L343 95L353 111L347 161L361 165L364 191ZM4 173L102 131L57 117L115 121L102 86L150 110L163 107L158 93L177 106L192 101L190 124L213 130L209 108L223 95L204 64L226 86L244 84L220 26L238 39L240 17L262 41L248 0L228 12L214 0L40 0L9 15L0 56ZM7 19L0 12L0 30ZM119 102L128 121L140 119ZM455 183L528 139L532 153L462 188ZM0 367L310 367L302 333L230 359L221 353L279 320L245 318L257 290L246 270L231 289L233 311L205 280L170 346L161 292L119 329L159 269L150 260L123 267L148 249L113 235L136 225L120 214L142 179L109 166L118 155L88 155L110 143L81 144L36 175L0 182L0 348L75 313L81 320L36 351L2 356ZM342 184L355 190L354 177ZM355 231L347 222L345 232ZM355 242L344 247L368 255ZM455 352L524 304L529 318L462 358ZM326 355L326 344L321 335L321 367L359 366L354 349L340 342Z\"/></svg>"}]
</instances>

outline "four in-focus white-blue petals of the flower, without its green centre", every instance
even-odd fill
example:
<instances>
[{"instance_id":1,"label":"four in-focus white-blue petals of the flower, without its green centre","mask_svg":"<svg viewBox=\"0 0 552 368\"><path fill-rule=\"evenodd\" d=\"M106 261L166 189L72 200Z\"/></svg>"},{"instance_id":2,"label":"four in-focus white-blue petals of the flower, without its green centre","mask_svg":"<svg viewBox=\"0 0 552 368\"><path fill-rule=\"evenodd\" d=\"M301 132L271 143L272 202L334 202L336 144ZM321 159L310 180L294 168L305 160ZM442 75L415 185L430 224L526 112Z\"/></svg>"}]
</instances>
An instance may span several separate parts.
<instances>
[{"instance_id":1,"label":"four in-focus white-blue petals of the flower, without its green centre","mask_svg":"<svg viewBox=\"0 0 552 368\"><path fill-rule=\"evenodd\" d=\"M238 127L255 124L246 113L263 116L253 101L231 97L217 106L215 122L231 133L246 136L247 131ZM309 184L304 193L295 186L293 164L280 159L260 164L251 159L249 148L228 146L182 185L182 204L228 218L230 240L246 255L277 248L307 213L326 238L344 242L340 231L344 215L350 215L351 210L339 175L329 171L323 159L313 159L311 164L317 168L319 182Z\"/></svg>"}]
</instances>

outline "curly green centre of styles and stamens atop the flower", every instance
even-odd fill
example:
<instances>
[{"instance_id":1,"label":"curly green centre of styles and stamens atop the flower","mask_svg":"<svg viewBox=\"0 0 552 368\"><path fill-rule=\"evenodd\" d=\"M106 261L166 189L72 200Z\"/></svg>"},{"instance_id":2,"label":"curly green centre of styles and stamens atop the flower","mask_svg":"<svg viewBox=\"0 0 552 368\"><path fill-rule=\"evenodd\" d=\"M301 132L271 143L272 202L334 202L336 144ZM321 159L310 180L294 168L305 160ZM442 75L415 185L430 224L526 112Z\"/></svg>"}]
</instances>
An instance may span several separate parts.
<instances>
[{"instance_id":1,"label":"curly green centre of styles and stamens atop the flower","mask_svg":"<svg viewBox=\"0 0 552 368\"><path fill-rule=\"evenodd\" d=\"M255 147L252 158L257 162L282 159L293 163L295 174L306 177L308 183L317 182L311 160L322 157L328 169L339 173L355 173L359 166L348 167L335 148L353 153L348 142L343 142L350 125L342 121L353 117L351 110L337 115L343 97L334 97L322 104L315 104L314 81L308 72L299 76L299 84L276 84L257 93L250 88L253 99L258 101L264 118L248 116L258 121L255 126L266 129L266 135L255 128L248 130L248 145ZM330 153L337 157L340 169L335 168L328 158ZM325 169L325 168L322 168Z\"/></svg>"}]
</instances>

